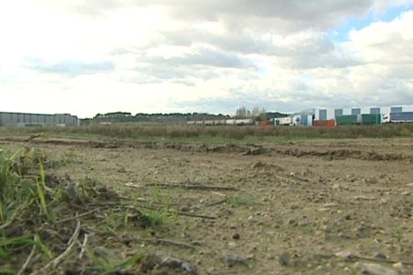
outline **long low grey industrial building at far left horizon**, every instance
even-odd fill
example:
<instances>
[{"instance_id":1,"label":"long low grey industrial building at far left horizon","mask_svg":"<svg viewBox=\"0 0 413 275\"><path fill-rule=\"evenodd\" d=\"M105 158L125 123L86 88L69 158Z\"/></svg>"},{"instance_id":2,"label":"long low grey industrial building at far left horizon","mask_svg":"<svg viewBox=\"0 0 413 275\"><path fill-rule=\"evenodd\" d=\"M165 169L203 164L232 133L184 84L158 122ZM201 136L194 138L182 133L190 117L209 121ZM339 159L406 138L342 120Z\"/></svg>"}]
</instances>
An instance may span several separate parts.
<instances>
[{"instance_id":1,"label":"long low grey industrial building at far left horizon","mask_svg":"<svg viewBox=\"0 0 413 275\"><path fill-rule=\"evenodd\" d=\"M0 126L78 126L80 120L70 113L9 113L0 112Z\"/></svg>"}]
</instances>

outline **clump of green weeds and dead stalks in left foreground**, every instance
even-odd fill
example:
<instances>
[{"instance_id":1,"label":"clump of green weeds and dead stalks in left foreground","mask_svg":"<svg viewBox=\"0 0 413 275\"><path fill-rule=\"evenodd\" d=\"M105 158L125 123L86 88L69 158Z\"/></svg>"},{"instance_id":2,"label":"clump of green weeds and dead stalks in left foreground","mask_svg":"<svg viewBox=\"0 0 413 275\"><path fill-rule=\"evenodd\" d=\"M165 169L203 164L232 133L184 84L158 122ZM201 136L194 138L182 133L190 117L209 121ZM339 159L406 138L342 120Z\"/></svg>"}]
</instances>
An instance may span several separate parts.
<instances>
[{"instance_id":1,"label":"clump of green weeds and dead stalks in left foreground","mask_svg":"<svg viewBox=\"0 0 413 275\"><path fill-rule=\"evenodd\" d=\"M48 180L52 177L47 175L45 169L49 165L45 153L29 146L13 154L0 150L0 274L16 274L17 268L27 258L25 252L30 247L34 246L42 252L36 260L39 265L50 261L56 253L60 254L59 250L50 250L50 247L59 247L58 244L51 243L56 236L61 238L61 228L54 222L54 215L63 215L70 221L75 215L69 206L74 199L75 203L82 204L92 199L97 201L110 193L107 188L96 188L96 184L90 181L74 184L65 180L64 185L61 185L54 179L56 184L48 186L47 184L51 184ZM105 198L115 197L116 194ZM116 213L110 213L106 222L116 228L119 219ZM113 233L112 228L108 229L109 233ZM41 236L45 242L41 240ZM143 254L136 254L116 265L105 263L105 268L125 268L140 261L142 256Z\"/></svg>"}]
</instances>

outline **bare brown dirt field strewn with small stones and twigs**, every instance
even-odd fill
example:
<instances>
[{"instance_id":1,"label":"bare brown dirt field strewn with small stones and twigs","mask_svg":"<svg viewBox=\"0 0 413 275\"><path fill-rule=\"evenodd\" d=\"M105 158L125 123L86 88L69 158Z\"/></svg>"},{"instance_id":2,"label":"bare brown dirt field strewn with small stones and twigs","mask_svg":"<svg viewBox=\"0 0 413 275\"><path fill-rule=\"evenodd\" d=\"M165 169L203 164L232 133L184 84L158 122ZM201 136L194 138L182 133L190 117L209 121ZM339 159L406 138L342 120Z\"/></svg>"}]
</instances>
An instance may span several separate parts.
<instances>
[{"instance_id":1,"label":"bare brown dirt field strewn with small stones and twigs","mask_svg":"<svg viewBox=\"0 0 413 275\"><path fill-rule=\"evenodd\" d=\"M68 201L82 230L50 274L413 274L413 139L31 146L54 184L100 192ZM75 227L39 234L59 252Z\"/></svg>"}]
</instances>

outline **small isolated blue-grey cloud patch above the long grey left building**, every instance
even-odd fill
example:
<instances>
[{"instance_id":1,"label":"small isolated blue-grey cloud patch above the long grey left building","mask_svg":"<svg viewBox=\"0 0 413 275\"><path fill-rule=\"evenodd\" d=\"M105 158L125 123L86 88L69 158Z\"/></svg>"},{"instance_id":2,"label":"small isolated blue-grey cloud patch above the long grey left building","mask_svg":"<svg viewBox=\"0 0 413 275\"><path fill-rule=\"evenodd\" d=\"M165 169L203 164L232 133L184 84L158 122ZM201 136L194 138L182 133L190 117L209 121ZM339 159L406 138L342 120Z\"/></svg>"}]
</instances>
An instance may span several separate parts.
<instances>
[{"instance_id":1,"label":"small isolated blue-grey cloud patch above the long grey left building","mask_svg":"<svg viewBox=\"0 0 413 275\"><path fill-rule=\"evenodd\" d=\"M83 63L63 60L57 63L46 63L39 58L25 58L25 67L34 71L47 74L63 74L65 76L79 76L82 74L96 74L99 72L112 72L115 64L112 61Z\"/></svg>"}]
</instances>

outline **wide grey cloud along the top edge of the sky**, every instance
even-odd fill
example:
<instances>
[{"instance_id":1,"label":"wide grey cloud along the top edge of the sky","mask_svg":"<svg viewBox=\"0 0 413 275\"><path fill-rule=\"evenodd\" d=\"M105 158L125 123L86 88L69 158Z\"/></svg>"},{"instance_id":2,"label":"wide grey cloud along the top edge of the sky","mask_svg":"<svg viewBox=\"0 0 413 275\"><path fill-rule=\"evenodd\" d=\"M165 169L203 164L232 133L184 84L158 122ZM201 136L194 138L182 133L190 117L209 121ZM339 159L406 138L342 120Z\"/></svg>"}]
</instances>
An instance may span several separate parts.
<instances>
[{"instance_id":1,"label":"wide grey cloud along the top edge of the sky","mask_svg":"<svg viewBox=\"0 0 413 275\"><path fill-rule=\"evenodd\" d=\"M103 0L76 1L70 10L105 17L110 10L132 6L164 6L171 17L185 21L222 21L230 30L260 28L286 30L326 29L346 17L360 17L380 0Z\"/></svg>"}]
</instances>

